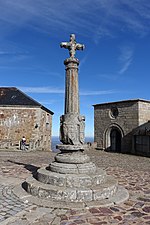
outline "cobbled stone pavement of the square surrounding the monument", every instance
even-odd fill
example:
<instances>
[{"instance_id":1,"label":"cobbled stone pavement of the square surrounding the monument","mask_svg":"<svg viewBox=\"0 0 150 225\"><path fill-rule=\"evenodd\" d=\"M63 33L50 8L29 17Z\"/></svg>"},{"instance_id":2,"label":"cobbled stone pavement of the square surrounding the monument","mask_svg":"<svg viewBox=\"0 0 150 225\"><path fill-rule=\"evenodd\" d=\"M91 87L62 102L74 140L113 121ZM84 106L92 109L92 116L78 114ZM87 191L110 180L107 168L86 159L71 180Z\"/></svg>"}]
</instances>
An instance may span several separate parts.
<instances>
[{"instance_id":1,"label":"cobbled stone pavement of the square surrounding the monument","mask_svg":"<svg viewBox=\"0 0 150 225\"><path fill-rule=\"evenodd\" d=\"M57 209L33 204L14 194L14 187L47 166L55 153L0 151L1 225L100 225L150 224L150 158L92 150L97 166L128 189L129 200L121 205L81 209Z\"/></svg>"}]
</instances>

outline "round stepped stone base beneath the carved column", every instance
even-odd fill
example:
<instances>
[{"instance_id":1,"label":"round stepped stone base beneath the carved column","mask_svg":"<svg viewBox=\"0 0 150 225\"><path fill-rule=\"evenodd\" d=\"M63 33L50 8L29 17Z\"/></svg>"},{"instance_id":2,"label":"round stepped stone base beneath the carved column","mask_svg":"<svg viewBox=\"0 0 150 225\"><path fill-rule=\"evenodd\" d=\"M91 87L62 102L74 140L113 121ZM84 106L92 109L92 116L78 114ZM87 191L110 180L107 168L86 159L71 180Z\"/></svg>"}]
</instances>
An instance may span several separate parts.
<instances>
[{"instance_id":1,"label":"round stepped stone base beneath the carved column","mask_svg":"<svg viewBox=\"0 0 150 225\"><path fill-rule=\"evenodd\" d=\"M58 204L93 205L100 201L112 204L116 198L122 202L129 197L116 179L97 168L83 152L57 154L55 161L40 168L35 177L29 177L24 187L32 196Z\"/></svg>"}]
</instances>

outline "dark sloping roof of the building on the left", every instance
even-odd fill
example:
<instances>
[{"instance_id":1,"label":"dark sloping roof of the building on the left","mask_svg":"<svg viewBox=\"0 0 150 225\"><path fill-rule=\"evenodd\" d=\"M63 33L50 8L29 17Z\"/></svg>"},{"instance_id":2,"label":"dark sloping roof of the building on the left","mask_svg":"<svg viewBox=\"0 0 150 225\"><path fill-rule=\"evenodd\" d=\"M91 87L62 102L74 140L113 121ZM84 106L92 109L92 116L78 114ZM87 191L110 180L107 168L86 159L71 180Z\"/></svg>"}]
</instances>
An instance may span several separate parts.
<instances>
[{"instance_id":1,"label":"dark sloping roof of the building on the left","mask_svg":"<svg viewBox=\"0 0 150 225\"><path fill-rule=\"evenodd\" d=\"M50 114L54 114L15 87L0 87L0 106L37 106Z\"/></svg>"}]
</instances>

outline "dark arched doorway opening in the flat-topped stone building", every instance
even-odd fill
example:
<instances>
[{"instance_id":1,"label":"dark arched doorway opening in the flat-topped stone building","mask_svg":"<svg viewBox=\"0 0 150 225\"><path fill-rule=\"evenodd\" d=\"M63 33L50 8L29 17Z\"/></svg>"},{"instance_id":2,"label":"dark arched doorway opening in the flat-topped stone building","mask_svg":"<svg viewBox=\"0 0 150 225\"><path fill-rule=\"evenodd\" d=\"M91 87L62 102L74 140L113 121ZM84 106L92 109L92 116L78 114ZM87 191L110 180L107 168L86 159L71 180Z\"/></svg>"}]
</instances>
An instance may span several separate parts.
<instances>
[{"instance_id":1,"label":"dark arched doorway opening in the flat-topped stone building","mask_svg":"<svg viewBox=\"0 0 150 225\"><path fill-rule=\"evenodd\" d=\"M122 135L120 130L112 128L110 132L110 150L113 152L121 152Z\"/></svg>"}]
</instances>

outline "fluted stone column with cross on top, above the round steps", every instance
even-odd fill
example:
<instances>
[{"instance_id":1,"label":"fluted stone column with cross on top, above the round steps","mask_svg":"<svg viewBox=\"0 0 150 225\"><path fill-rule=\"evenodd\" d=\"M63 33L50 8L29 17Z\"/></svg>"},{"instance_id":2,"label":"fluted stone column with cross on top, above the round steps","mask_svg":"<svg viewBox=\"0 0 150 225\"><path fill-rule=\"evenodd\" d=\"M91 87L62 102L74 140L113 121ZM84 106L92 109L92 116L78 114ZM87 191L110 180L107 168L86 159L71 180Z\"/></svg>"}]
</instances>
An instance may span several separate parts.
<instances>
[{"instance_id":1,"label":"fluted stone column with cross on top, above the round steps","mask_svg":"<svg viewBox=\"0 0 150 225\"><path fill-rule=\"evenodd\" d=\"M76 50L83 50L84 45L76 43L75 35L70 35L70 42L62 42L60 47L69 50L70 57L64 61L66 69L65 79L65 110L60 118L60 145L59 149L69 151L80 150L84 144L85 117L80 115L79 87L78 87L78 65L79 60L75 58ZM67 145L67 146L66 146ZM76 145L73 146L73 145ZM79 146L80 145L80 146Z\"/></svg>"}]
</instances>

